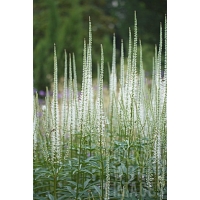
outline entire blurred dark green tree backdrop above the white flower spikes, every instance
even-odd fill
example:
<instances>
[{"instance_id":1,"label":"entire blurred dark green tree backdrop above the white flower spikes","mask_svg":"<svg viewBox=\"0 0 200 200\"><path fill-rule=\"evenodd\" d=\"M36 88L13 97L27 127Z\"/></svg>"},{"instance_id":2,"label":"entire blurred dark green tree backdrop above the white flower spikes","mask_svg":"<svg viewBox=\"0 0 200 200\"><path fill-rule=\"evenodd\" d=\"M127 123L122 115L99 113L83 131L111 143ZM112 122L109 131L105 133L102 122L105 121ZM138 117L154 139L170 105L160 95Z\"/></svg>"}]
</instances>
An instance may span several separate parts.
<instances>
[{"instance_id":1,"label":"entire blurred dark green tree backdrop above the white flower spikes","mask_svg":"<svg viewBox=\"0 0 200 200\"><path fill-rule=\"evenodd\" d=\"M93 76L100 62L100 44L104 47L105 74L112 62L113 33L116 35L117 63L121 39L125 56L128 50L128 28L133 35L134 11L137 12L138 38L142 40L144 68L150 73L155 44L159 43L160 22L164 24L167 0L34 0L33 1L33 80L34 88L45 90L53 77L53 46L56 44L58 76L64 74L64 49L75 53L77 78L82 79L83 40L88 41L88 19L93 34ZM118 69L119 70L119 69Z\"/></svg>"}]
</instances>

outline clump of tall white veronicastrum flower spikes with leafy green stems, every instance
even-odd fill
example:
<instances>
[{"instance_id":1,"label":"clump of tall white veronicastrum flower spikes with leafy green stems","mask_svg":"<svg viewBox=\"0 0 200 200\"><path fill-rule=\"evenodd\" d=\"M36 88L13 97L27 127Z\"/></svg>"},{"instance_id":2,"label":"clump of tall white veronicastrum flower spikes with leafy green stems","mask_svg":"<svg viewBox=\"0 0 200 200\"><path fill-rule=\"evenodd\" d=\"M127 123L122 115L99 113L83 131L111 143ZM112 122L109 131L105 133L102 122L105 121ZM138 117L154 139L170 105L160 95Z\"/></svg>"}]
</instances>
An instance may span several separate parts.
<instances>
[{"instance_id":1,"label":"clump of tall white veronicastrum flower spikes with leafy green stems","mask_svg":"<svg viewBox=\"0 0 200 200\"><path fill-rule=\"evenodd\" d=\"M121 41L119 77L116 73L116 38L113 35L109 97L104 96L103 89L103 45L100 45L97 91L93 89L90 20L89 41L84 40L83 47L80 95L75 55L64 52L64 85L60 102L54 45L53 97L47 88L45 105L41 107L38 95L34 96L34 199L166 199L166 19L164 27L165 41L162 41L160 26L160 43L155 46L151 88L143 69L136 13L133 41L129 29L127 59ZM163 68L164 76L161 75ZM105 98L109 98L107 109Z\"/></svg>"}]
</instances>

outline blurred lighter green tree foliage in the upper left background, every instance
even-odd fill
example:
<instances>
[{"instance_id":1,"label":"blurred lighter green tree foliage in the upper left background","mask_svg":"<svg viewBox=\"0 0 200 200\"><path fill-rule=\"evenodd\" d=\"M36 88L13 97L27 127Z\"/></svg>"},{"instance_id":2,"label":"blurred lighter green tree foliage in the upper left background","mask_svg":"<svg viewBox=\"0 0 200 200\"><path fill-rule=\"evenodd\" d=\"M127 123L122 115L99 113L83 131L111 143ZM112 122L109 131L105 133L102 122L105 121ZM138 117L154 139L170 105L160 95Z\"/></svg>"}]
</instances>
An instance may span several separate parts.
<instances>
[{"instance_id":1,"label":"blurred lighter green tree foliage in the upper left background","mask_svg":"<svg viewBox=\"0 0 200 200\"><path fill-rule=\"evenodd\" d=\"M108 47L105 56L106 62L110 57L109 50L111 41L108 33L112 29L108 28L113 21L111 16L104 12L105 2L95 1L36 1L34 0L34 22L33 22L33 67L34 67L34 87L38 90L45 90L50 86L53 74L53 45L57 45L58 66L64 69L64 53L75 53L77 64L77 78L81 83L82 77L82 54L83 38L87 37L88 17L93 20L93 31L95 32L93 73L97 73L97 61L99 55L99 44L105 42ZM60 70L62 72L62 70ZM58 74L62 77L62 73Z\"/></svg>"}]
</instances>

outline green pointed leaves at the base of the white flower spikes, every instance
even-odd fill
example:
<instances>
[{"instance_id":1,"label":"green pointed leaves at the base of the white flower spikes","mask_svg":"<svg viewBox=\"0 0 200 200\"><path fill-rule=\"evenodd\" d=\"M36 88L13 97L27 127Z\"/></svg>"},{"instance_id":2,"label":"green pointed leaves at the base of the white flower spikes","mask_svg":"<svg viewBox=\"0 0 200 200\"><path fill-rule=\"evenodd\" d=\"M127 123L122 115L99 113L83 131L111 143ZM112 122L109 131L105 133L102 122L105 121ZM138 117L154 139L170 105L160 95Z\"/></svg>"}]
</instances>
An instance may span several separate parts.
<instances>
[{"instance_id":1,"label":"green pointed leaves at the base of the white flower spikes","mask_svg":"<svg viewBox=\"0 0 200 200\"><path fill-rule=\"evenodd\" d=\"M123 187L126 188L124 199L139 197L139 183L142 183L143 200L156 199L155 190L147 187L146 177L140 173L140 159L143 159L142 156L145 152L143 149L148 144L150 143L141 141L135 141L131 144L128 141L115 141L114 148L110 149L112 152L112 156L110 156L110 199L121 199ZM84 152L84 149L89 148L89 146L84 146L82 150ZM77 149L76 144L73 149ZM138 157L138 155L140 156ZM87 154L82 153L80 155L81 163L79 163L77 156L79 156L79 153L73 151L73 157L60 163L55 169L52 168L50 162L45 164L42 157L35 161L33 171L34 199L76 199L77 184L79 187L78 199L88 199L91 193L94 199L100 199L100 179L102 177L99 163L101 156L95 153L94 156L88 157ZM105 166L105 156L103 156L103 160ZM104 170L104 184L105 177ZM54 190L55 184L56 191ZM166 187L164 191L164 196L166 196Z\"/></svg>"}]
</instances>

